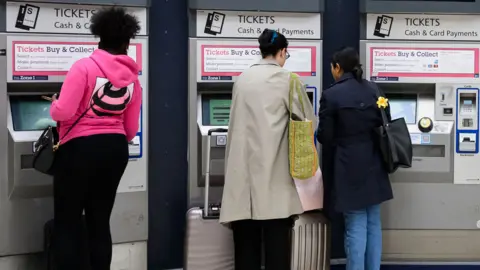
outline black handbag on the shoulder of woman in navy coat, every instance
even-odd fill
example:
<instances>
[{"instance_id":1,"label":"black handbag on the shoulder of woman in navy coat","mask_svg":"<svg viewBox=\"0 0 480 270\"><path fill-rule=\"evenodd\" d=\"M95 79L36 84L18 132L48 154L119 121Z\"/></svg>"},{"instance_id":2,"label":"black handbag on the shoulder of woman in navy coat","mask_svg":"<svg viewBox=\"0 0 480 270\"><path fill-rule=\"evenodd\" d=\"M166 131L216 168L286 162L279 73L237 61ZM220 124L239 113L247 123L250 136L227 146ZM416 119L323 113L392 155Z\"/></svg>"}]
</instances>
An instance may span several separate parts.
<instances>
[{"instance_id":1,"label":"black handbag on the shoulder of woman in navy coat","mask_svg":"<svg viewBox=\"0 0 480 270\"><path fill-rule=\"evenodd\" d=\"M382 96L380 89L374 85L377 98ZM410 133L405 118L389 121L385 109L380 108L382 125L375 129L378 135L380 151L388 173L398 168L412 167L413 149Z\"/></svg>"}]
</instances>

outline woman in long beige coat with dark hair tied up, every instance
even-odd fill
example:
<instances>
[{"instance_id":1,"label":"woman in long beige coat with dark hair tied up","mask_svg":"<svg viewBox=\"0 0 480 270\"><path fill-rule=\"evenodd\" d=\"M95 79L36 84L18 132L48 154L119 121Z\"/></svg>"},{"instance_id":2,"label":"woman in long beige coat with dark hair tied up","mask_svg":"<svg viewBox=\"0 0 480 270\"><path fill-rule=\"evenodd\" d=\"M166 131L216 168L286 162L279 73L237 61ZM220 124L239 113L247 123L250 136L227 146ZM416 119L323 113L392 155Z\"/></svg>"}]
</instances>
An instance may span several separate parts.
<instances>
[{"instance_id":1,"label":"woman in long beige coat with dark hair tied up","mask_svg":"<svg viewBox=\"0 0 480 270\"><path fill-rule=\"evenodd\" d=\"M303 212L288 163L291 73L282 67L290 55L287 39L274 30L258 41L263 59L233 87L220 222L231 223L236 270L261 269L262 241L266 269L290 270L291 217ZM292 112L314 120L302 95L306 115L296 94Z\"/></svg>"}]
</instances>

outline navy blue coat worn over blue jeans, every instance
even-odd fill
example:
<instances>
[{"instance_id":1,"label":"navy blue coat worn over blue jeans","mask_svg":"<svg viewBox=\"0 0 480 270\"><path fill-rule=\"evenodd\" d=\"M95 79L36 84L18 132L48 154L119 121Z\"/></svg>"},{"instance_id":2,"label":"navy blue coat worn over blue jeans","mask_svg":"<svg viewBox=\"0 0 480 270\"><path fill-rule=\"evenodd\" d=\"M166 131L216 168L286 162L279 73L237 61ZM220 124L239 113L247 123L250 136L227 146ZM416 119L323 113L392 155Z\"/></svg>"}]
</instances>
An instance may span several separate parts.
<instances>
[{"instance_id":1,"label":"navy blue coat worn over blue jeans","mask_svg":"<svg viewBox=\"0 0 480 270\"><path fill-rule=\"evenodd\" d=\"M325 204L338 212L393 198L374 133L382 124L376 102L370 83L360 83L350 73L322 93L317 139L323 151Z\"/></svg>"}]
</instances>

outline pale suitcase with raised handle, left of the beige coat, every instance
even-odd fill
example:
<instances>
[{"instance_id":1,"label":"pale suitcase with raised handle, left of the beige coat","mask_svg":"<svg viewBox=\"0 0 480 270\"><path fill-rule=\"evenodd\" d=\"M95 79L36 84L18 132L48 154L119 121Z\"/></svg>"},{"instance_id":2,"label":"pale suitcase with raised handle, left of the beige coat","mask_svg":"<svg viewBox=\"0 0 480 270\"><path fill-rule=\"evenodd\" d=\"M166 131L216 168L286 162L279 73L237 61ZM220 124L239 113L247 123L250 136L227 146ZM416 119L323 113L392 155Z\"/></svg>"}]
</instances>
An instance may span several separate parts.
<instances>
[{"instance_id":1,"label":"pale suitcase with raised handle, left of the beige coat","mask_svg":"<svg viewBox=\"0 0 480 270\"><path fill-rule=\"evenodd\" d=\"M220 205L209 203L210 143L213 133L226 133L223 128L208 131L206 145L205 194L203 207L187 212L185 237L185 270L234 270L233 233L220 224Z\"/></svg>"}]
</instances>

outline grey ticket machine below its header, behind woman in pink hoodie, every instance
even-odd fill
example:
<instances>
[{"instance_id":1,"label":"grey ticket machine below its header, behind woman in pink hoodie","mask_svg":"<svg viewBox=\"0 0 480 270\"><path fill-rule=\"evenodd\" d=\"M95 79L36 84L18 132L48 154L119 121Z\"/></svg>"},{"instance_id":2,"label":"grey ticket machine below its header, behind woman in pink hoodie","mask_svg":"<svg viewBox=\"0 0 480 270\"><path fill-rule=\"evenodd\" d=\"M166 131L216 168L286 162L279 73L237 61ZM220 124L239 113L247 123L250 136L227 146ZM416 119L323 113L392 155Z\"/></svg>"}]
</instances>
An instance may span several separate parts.
<instances>
[{"instance_id":1,"label":"grey ticket machine below its header, behind woman in pink hoodie","mask_svg":"<svg viewBox=\"0 0 480 270\"><path fill-rule=\"evenodd\" d=\"M6 57L0 58L0 256L30 254L43 249L43 226L53 218L52 178L32 168L33 143L42 130L56 123L50 117L50 97L61 90L70 67L98 47L92 37L1 35ZM132 41L129 55L141 67L141 124L130 143L130 162L121 180L111 227L115 243L147 240L148 39ZM6 75L6 77L5 77ZM2 76L2 75L0 75ZM61 94L60 94L61 96ZM125 218L129 217L129 218Z\"/></svg>"}]
</instances>

